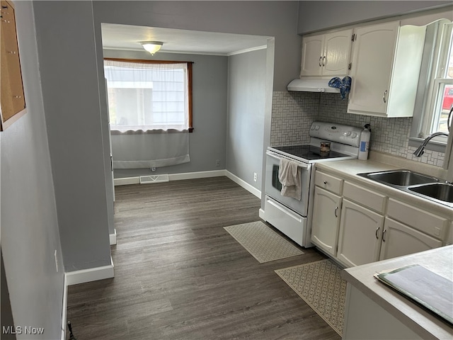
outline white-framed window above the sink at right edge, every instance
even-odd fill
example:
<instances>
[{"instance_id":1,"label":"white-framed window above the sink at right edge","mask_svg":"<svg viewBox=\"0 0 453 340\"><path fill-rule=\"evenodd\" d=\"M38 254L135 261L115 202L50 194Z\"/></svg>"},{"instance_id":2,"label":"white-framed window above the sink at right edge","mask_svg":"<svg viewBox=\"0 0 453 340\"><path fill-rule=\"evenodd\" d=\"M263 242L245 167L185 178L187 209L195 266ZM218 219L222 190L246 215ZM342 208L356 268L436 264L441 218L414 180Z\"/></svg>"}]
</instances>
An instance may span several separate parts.
<instances>
[{"instance_id":1,"label":"white-framed window above the sink at right edge","mask_svg":"<svg viewBox=\"0 0 453 340\"><path fill-rule=\"evenodd\" d=\"M452 23L443 19L427 26L424 61L419 89L423 106L421 119L413 121L413 136L425 138L434 132L447 132L449 111L453 107L453 35ZM417 135L415 135L415 131ZM433 139L445 145L447 138Z\"/></svg>"}]
</instances>

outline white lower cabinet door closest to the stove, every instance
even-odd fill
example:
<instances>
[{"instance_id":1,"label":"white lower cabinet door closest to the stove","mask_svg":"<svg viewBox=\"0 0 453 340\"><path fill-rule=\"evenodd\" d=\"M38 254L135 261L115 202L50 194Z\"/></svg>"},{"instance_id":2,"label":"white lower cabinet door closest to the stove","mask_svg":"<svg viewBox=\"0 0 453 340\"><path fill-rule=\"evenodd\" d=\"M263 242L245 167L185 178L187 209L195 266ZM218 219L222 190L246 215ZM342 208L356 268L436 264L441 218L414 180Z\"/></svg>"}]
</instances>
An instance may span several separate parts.
<instances>
[{"instance_id":1,"label":"white lower cabinet door closest to the stove","mask_svg":"<svg viewBox=\"0 0 453 340\"><path fill-rule=\"evenodd\" d=\"M311 242L336 256L341 197L318 186L314 189Z\"/></svg>"}]
</instances>

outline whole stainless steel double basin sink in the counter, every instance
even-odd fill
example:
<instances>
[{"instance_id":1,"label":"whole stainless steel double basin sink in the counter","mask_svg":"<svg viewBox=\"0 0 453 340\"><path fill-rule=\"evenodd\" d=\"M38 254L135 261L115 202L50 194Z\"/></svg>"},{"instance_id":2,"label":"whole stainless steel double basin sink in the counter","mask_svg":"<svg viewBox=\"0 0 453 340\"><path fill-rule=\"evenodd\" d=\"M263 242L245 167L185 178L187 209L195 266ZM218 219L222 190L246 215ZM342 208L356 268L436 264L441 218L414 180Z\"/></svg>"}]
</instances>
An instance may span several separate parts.
<instances>
[{"instance_id":1,"label":"whole stainless steel double basin sink in the counter","mask_svg":"<svg viewBox=\"0 0 453 340\"><path fill-rule=\"evenodd\" d=\"M453 208L453 184L436 177L410 170L367 172L357 175Z\"/></svg>"}]
</instances>

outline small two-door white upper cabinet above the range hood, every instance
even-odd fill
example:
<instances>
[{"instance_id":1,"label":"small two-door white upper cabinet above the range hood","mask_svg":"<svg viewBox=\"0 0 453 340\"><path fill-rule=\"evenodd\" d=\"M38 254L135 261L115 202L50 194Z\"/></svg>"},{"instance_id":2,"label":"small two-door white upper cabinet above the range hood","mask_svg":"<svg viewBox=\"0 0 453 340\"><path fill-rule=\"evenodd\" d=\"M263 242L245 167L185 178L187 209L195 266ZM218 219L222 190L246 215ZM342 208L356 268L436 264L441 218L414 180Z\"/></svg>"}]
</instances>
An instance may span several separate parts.
<instances>
[{"instance_id":1,"label":"small two-door white upper cabinet above the range hood","mask_svg":"<svg viewBox=\"0 0 453 340\"><path fill-rule=\"evenodd\" d=\"M352 43L352 28L302 38L301 77L345 76Z\"/></svg>"}]
</instances>

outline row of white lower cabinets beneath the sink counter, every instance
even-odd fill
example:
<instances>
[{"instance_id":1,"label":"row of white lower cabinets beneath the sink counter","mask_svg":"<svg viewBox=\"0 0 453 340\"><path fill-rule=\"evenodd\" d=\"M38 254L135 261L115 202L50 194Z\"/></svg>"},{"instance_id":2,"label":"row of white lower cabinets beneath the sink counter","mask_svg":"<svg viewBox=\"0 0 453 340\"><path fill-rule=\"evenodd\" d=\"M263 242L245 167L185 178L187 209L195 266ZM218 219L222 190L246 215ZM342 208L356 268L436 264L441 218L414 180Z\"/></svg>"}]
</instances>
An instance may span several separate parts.
<instances>
[{"instance_id":1,"label":"row of white lower cabinets beneath the sink counter","mask_svg":"<svg viewBox=\"0 0 453 340\"><path fill-rule=\"evenodd\" d=\"M346 267L453 243L453 221L316 171L311 242ZM451 215L451 214L450 214ZM449 231L449 229L452 229Z\"/></svg>"}]
</instances>

